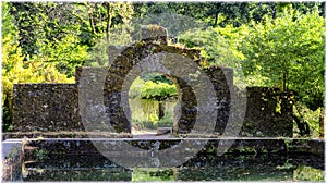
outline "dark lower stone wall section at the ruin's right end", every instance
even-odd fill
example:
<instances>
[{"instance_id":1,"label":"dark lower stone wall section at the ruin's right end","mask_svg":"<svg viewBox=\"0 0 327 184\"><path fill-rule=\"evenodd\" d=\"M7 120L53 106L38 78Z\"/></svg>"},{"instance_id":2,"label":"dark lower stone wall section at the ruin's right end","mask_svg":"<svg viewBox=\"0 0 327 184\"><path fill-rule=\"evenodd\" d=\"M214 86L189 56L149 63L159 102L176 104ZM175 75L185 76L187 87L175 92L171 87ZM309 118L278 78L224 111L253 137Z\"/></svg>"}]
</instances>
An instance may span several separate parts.
<instances>
[{"instance_id":1,"label":"dark lower stone wall section at the ruin's right end","mask_svg":"<svg viewBox=\"0 0 327 184\"><path fill-rule=\"evenodd\" d=\"M293 94L279 88L247 87L242 136L292 137Z\"/></svg>"}]
</instances>

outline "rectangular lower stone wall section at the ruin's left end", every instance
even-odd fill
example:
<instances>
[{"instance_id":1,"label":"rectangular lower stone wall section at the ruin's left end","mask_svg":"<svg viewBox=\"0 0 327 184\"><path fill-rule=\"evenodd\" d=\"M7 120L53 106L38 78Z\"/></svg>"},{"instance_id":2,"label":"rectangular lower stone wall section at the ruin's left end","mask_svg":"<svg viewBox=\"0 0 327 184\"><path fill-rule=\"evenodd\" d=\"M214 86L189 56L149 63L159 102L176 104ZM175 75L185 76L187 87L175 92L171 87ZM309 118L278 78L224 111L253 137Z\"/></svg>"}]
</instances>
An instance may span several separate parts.
<instances>
[{"instance_id":1,"label":"rectangular lower stone wall section at the ruin's left end","mask_svg":"<svg viewBox=\"0 0 327 184\"><path fill-rule=\"evenodd\" d=\"M83 131L75 84L15 84L15 132Z\"/></svg>"}]
</instances>

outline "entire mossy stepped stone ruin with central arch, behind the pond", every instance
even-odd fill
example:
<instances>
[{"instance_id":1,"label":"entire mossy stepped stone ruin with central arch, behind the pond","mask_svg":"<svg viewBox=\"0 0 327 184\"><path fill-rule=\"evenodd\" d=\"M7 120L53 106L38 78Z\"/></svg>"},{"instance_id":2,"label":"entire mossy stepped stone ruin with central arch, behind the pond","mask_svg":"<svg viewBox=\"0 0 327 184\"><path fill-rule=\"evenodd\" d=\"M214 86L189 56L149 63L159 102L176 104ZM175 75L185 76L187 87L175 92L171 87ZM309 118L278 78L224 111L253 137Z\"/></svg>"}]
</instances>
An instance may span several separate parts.
<instances>
[{"instance_id":1,"label":"entire mossy stepped stone ruin with central arch, behind the pond","mask_svg":"<svg viewBox=\"0 0 327 184\"><path fill-rule=\"evenodd\" d=\"M143 33L149 35L146 30ZM179 114L173 132L187 134L198 115L197 99L205 98L196 91L204 87L197 81L197 72L202 71L213 84L216 96L211 101L215 108L207 109L207 114L218 109L214 134L222 135L229 118L239 113L231 111L231 94L239 90L233 85L233 70L202 69L199 50L169 46L167 32L158 33L123 47L111 56L109 68L76 68L75 84L15 84L14 132L131 133L129 88L137 76L160 72L174 82L179 91ZM187 71L190 65L192 69ZM197 82L193 86L185 79L192 81L192 77ZM246 94L240 97L246 101L246 110L239 135L292 137L292 97L291 93L278 88L247 87Z\"/></svg>"}]
</instances>

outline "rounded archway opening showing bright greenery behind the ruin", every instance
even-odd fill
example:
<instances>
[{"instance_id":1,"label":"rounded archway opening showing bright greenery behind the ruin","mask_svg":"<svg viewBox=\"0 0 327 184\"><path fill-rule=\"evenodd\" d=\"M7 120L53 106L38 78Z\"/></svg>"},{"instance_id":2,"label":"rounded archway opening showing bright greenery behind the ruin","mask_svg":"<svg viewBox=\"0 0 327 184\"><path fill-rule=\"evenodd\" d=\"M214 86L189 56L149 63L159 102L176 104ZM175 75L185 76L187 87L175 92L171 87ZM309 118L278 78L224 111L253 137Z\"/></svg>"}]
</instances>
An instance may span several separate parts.
<instances>
[{"instance_id":1,"label":"rounded archway opening showing bright greenery behind the ruin","mask_svg":"<svg viewBox=\"0 0 327 184\"><path fill-rule=\"evenodd\" d=\"M137 76L129 90L131 133L169 135L178 120L179 88L168 75L146 73Z\"/></svg>"}]
</instances>

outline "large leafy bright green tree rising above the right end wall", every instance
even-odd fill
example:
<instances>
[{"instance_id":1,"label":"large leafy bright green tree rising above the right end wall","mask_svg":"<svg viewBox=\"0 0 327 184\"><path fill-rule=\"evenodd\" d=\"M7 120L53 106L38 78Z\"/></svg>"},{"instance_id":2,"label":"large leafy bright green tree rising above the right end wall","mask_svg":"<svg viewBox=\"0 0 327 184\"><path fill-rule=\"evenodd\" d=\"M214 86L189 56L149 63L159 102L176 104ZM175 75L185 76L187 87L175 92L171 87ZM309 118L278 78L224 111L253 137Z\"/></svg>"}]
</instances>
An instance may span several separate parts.
<instances>
[{"instance_id":1,"label":"large leafy bright green tree rising above the right end wall","mask_svg":"<svg viewBox=\"0 0 327 184\"><path fill-rule=\"evenodd\" d=\"M319 13L318 7L304 14L288 4L275 20L252 22L241 47L249 85L295 90L298 102L323 110L325 21Z\"/></svg>"}]
</instances>

